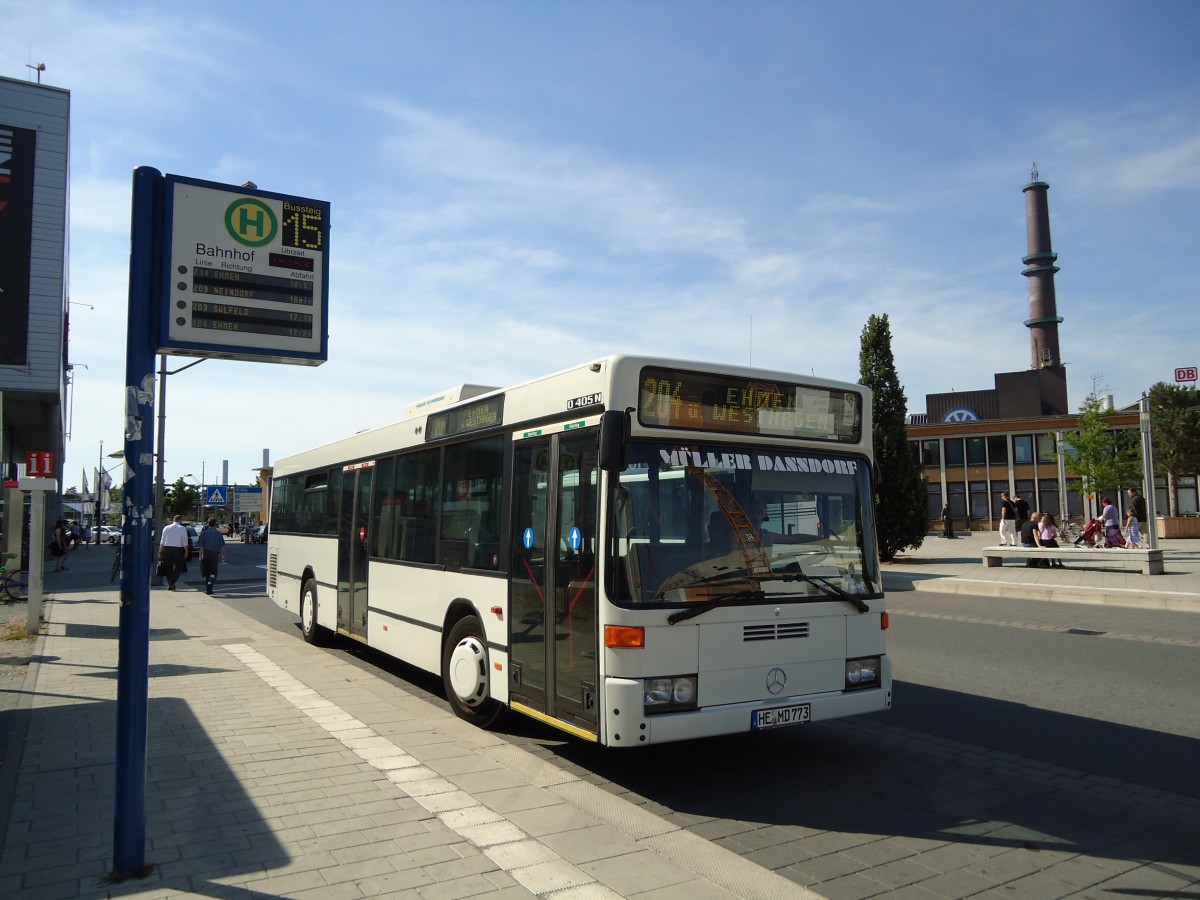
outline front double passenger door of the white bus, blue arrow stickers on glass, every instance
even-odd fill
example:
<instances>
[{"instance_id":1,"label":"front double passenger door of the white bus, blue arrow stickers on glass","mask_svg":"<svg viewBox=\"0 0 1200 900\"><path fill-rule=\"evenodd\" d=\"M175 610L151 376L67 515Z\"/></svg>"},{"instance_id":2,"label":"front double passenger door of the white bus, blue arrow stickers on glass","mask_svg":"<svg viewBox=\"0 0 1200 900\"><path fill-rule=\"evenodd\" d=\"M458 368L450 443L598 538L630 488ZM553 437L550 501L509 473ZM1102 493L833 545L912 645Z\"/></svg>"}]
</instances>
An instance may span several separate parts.
<instances>
[{"instance_id":1,"label":"front double passenger door of the white bus, blue arrow stickers on glass","mask_svg":"<svg viewBox=\"0 0 1200 900\"><path fill-rule=\"evenodd\" d=\"M596 431L517 442L510 560L510 695L596 730Z\"/></svg>"}]
</instances>

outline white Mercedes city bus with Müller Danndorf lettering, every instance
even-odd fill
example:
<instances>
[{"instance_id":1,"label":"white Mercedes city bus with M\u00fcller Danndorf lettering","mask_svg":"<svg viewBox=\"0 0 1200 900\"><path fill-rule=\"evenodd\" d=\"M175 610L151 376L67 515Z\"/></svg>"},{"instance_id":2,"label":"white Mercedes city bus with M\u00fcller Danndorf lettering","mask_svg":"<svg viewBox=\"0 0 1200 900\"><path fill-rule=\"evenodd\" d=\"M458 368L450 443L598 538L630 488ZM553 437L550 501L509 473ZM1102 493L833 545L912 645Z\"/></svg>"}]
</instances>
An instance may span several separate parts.
<instances>
[{"instance_id":1,"label":"white Mercedes city bus with M\u00fcller Danndorf lettering","mask_svg":"<svg viewBox=\"0 0 1200 900\"><path fill-rule=\"evenodd\" d=\"M281 460L268 590L514 709L641 746L887 709L870 392L608 356Z\"/></svg>"}]
</instances>

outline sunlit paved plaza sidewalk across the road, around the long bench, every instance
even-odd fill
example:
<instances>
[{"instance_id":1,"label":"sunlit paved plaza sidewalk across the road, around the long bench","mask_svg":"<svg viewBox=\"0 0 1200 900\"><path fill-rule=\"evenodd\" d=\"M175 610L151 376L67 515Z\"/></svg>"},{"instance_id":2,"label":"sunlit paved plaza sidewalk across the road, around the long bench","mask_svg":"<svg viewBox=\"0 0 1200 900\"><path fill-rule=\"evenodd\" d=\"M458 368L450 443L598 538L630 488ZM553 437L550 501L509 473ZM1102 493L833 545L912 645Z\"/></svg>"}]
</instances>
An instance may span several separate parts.
<instances>
[{"instance_id":1,"label":"sunlit paved plaza sidewalk across the road, around the long bench","mask_svg":"<svg viewBox=\"0 0 1200 900\"><path fill-rule=\"evenodd\" d=\"M930 533L920 547L904 551L883 566L883 587L1200 612L1200 540L1160 540L1163 575L1102 569L1094 564L1085 568L1070 560L1063 569L1027 569L1018 560L988 568L983 548L998 542L996 532L960 532L954 540Z\"/></svg>"}]
</instances>

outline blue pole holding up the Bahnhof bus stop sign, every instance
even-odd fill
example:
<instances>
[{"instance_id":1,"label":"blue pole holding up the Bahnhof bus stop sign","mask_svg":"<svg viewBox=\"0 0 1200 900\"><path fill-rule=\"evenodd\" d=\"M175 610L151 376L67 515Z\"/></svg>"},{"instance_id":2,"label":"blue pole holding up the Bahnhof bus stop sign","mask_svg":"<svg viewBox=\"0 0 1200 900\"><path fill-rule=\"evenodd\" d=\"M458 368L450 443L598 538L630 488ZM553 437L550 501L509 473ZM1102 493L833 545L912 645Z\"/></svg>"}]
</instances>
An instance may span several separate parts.
<instances>
[{"instance_id":1,"label":"blue pole holding up the Bahnhof bus stop sign","mask_svg":"<svg viewBox=\"0 0 1200 900\"><path fill-rule=\"evenodd\" d=\"M133 170L130 311L125 366L125 523L116 661L116 786L113 869L145 868L146 712L150 683L150 570L154 522L154 386L161 294L163 176Z\"/></svg>"}]
</instances>

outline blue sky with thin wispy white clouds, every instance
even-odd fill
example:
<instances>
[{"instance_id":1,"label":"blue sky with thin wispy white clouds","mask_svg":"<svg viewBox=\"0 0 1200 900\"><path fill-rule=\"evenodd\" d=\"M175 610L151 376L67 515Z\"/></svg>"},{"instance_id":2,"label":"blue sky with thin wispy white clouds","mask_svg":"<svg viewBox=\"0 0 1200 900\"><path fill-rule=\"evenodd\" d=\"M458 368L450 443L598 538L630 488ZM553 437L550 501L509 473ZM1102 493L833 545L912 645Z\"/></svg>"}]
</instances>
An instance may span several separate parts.
<instances>
[{"instance_id":1,"label":"blue sky with thin wispy white clouds","mask_svg":"<svg viewBox=\"0 0 1200 900\"><path fill-rule=\"evenodd\" d=\"M72 94L68 485L121 440L138 166L332 205L329 362L173 376L168 480L228 460L245 484L264 449L611 352L853 380L871 314L911 412L989 389L1030 365L1034 161L1072 407L1200 365L1200 4L0 0L0 74L44 62Z\"/></svg>"}]
</instances>

